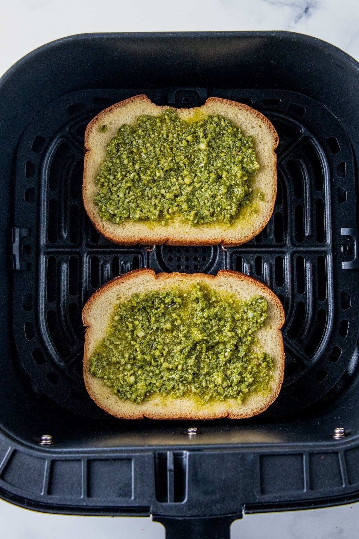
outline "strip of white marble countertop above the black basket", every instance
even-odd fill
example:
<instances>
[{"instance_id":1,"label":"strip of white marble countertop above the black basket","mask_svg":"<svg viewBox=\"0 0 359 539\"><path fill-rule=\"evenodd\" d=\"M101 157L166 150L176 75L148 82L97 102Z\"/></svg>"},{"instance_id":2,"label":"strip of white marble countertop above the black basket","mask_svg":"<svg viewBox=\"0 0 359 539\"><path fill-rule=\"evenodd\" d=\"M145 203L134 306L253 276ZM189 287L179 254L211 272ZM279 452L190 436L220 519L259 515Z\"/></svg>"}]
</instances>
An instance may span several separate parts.
<instances>
[{"instance_id":1,"label":"strip of white marble countertop above the black basket","mask_svg":"<svg viewBox=\"0 0 359 539\"><path fill-rule=\"evenodd\" d=\"M0 74L44 43L86 32L290 30L328 41L359 59L358 21L356 0L2 2Z\"/></svg>"}]
</instances>

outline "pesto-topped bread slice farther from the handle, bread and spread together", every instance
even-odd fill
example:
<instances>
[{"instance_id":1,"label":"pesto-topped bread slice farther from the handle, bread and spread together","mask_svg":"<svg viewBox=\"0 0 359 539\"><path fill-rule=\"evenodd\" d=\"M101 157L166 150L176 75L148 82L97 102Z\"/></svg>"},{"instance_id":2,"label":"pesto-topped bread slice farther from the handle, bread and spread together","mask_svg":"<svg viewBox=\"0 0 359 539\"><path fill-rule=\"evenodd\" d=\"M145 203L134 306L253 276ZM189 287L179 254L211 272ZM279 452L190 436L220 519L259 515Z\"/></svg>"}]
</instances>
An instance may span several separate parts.
<instances>
[{"instance_id":1,"label":"pesto-topped bread slice farther from the handle, bread and spread together","mask_svg":"<svg viewBox=\"0 0 359 539\"><path fill-rule=\"evenodd\" d=\"M277 145L270 121L242 103L174 109L137 95L87 126L83 203L120 245L241 245L272 215Z\"/></svg>"}]
</instances>

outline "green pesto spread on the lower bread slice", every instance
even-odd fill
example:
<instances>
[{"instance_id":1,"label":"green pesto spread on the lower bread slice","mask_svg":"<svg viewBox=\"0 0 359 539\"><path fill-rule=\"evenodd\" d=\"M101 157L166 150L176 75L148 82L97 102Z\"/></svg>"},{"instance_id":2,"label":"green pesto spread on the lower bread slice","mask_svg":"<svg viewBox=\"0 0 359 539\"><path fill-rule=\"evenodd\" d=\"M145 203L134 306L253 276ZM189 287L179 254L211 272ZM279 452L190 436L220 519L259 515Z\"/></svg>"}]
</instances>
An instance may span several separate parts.
<instances>
[{"instance_id":1,"label":"green pesto spread on the lower bread slice","mask_svg":"<svg viewBox=\"0 0 359 539\"><path fill-rule=\"evenodd\" d=\"M153 393L242 403L270 389L273 360L255 337L267 307L262 296L242 301L203 284L135 294L116 305L90 373L135 403Z\"/></svg>"}]
</instances>

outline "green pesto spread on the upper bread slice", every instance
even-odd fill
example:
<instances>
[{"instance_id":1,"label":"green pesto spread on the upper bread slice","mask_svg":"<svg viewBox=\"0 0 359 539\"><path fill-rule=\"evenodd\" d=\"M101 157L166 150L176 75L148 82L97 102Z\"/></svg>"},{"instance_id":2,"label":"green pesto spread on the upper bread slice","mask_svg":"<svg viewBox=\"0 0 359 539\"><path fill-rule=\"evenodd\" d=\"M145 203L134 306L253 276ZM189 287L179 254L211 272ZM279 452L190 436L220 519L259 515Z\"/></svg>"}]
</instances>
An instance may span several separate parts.
<instances>
[{"instance_id":1,"label":"green pesto spread on the upper bread slice","mask_svg":"<svg viewBox=\"0 0 359 539\"><path fill-rule=\"evenodd\" d=\"M95 204L112 223L231 224L250 204L258 168L252 137L230 120L199 114L185 121L168 109L118 129L96 177Z\"/></svg>"}]
</instances>

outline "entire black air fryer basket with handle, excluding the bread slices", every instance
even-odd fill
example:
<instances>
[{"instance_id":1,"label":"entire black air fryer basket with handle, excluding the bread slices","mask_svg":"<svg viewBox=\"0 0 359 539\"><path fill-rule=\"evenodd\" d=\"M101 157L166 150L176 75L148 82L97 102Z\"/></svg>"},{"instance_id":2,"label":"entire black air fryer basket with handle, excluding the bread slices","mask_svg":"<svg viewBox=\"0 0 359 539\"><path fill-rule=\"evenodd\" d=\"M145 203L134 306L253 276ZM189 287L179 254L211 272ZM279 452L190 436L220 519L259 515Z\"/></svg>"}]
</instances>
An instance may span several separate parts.
<instances>
[{"instance_id":1,"label":"entire black air fryer basket with handle, excluding the bread slices","mask_svg":"<svg viewBox=\"0 0 359 539\"><path fill-rule=\"evenodd\" d=\"M0 495L39 510L148 515L168 537L228 537L242 510L359 499L358 64L286 32L86 34L0 82ZM237 248L121 247L81 200L83 136L100 110L247 103L279 135L269 224ZM116 275L236 269L283 302L285 381L248 420L125 421L82 381L81 310ZM188 436L188 427L198 434ZM335 427L346 436L333 439ZM53 445L41 446L51 434ZM181 518L179 522L177 519ZM222 535L221 535L222 534ZM210 536L210 535L208 535Z\"/></svg>"}]
</instances>

